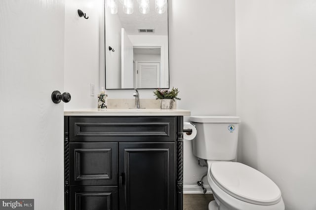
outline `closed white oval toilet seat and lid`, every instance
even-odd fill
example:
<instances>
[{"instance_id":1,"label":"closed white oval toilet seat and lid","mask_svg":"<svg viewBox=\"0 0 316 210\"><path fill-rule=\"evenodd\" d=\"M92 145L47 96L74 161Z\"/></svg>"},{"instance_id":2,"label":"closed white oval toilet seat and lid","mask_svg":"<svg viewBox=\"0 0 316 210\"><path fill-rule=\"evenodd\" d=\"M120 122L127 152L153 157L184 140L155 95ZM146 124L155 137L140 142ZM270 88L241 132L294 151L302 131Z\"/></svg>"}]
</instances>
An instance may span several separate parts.
<instances>
[{"instance_id":1,"label":"closed white oval toilet seat and lid","mask_svg":"<svg viewBox=\"0 0 316 210\"><path fill-rule=\"evenodd\" d=\"M251 204L274 205L281 200L277 185L261 172L237 162L214 162L214 183L229 195Z\"/></svg>"}]
</instances>

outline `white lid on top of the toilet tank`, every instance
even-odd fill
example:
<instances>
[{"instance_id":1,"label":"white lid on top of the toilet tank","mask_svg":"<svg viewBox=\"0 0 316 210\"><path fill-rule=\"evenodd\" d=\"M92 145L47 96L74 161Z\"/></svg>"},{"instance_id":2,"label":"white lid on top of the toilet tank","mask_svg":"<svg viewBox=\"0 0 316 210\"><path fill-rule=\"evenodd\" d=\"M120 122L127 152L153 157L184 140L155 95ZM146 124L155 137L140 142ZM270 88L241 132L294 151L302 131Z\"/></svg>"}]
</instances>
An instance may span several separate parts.
<instances>
[{"instance_id":1,"label":"white lid on top of the toilet tank","mask_svg":"<svg viewBox=\"0 0 316 210\"><path fill-rule=\"evenodd\" d=\"M191 122L198 122L198 123L240 123L240 117L237 116L191 116Z\"/></svg>"}]
</instances>

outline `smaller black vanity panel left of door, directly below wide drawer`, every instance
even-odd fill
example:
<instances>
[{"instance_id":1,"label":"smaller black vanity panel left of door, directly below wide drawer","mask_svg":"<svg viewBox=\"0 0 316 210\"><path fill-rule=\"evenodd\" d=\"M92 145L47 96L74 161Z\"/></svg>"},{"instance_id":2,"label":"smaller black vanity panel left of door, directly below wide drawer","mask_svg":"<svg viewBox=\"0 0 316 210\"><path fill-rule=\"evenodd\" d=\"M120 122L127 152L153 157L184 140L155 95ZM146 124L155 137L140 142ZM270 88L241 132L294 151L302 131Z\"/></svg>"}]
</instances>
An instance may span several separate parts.
<instances>
[{"instance_id":1,"label":"smaller black vanity panel left of door, directly below wide drawer","mask_svg":"<svg viewBox=\"0 0 316 210\"><path fill-rule=\"evenodd\" d=\"M118 143L69 144L70 185L117 185Z\"/></svg>"}]
</instances>

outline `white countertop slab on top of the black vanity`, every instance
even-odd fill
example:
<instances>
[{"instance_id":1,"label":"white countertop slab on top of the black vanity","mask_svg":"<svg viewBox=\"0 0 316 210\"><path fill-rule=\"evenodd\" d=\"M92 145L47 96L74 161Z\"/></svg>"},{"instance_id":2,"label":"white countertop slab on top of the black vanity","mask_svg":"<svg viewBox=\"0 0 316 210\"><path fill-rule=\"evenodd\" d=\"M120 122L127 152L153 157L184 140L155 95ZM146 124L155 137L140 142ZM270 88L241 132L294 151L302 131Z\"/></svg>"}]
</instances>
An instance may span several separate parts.
<instances>
[{"instance_id":1,"label":"white countertop slab on top of the black vanity","mask_svg":"<svg viewBox=\"0 0 316 210\"><path fill-rule=\"evenodd\" d=\"M108 108L104 111L97 109L65 110L64 116L189 116L191 111L173 108Z\"/></svg>"}]
</instances>

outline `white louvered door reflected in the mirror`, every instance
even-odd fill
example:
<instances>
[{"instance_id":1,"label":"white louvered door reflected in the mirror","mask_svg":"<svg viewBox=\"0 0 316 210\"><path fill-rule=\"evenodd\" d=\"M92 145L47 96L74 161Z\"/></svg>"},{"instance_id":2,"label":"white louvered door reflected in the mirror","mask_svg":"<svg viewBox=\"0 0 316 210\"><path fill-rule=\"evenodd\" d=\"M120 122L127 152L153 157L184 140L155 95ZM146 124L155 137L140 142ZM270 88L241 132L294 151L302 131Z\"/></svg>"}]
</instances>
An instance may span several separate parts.
<instances>
[{"instance_id":1,"label":"white louvered door reflected in the mirror","mask_svg":"<svg viewBox=\"0 0 316 210\"><path fill-rule=\"evenodd\" d=\"M160 63L138 63L138 88L160 87Z\"/></svg>"}]
</instances>

